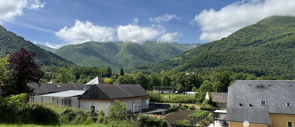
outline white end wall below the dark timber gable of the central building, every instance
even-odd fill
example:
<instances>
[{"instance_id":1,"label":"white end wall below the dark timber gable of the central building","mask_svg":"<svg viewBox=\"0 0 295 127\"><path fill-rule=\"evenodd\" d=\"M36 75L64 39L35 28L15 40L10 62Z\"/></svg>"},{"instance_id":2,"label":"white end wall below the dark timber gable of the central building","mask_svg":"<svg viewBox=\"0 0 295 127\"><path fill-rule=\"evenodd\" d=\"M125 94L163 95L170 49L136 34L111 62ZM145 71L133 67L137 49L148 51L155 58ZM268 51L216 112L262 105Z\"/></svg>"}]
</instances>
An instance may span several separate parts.
<instances>
[{"instance_id":1,"label":"white end wall below the dark timber gable of the central building","mask_svg":"<svg viewBox=\"0 0 295 127\"><path fill-rule=\"evenodd\" d=\"M90 110L91 106L95 106L94 112L98 112L101 109L104 109L105 116L108 116L108 106L110 105L111 105L110 101L80 100L80 108L84 110Z\"/></svg>"}]
</instances>

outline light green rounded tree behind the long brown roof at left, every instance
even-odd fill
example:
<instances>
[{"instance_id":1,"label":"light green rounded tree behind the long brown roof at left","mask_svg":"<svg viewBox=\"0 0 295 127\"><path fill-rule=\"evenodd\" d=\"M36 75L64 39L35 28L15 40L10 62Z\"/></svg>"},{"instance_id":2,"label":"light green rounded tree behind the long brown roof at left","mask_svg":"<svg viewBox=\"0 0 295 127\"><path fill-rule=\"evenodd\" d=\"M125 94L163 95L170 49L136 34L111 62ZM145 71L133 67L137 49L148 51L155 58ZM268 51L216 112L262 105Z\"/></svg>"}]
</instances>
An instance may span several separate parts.
<instances>
[{"instance_id":1,"label":"light green rounded tree behind the long brown roof at left","mask_svg":"<svg viewBox=\"0 0 295 127\"><path fill-rule=\"evenodd\" d=\"M59 83L69 83L69 80L73 74L69 69L67 68L60 68L58 69L58 75L56 76L56 79L58 80Z\"/></svg>"}]
</instances>

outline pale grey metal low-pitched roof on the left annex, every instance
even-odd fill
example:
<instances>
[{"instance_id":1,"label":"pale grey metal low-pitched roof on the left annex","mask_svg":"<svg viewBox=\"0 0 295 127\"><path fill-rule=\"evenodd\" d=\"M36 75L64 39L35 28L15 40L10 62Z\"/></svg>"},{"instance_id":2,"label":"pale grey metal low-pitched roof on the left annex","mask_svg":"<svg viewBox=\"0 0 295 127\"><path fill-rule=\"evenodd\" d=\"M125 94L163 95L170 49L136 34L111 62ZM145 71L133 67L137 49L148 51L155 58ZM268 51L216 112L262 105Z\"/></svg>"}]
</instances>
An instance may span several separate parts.
<instances>
[{"instance_id":1,"label":"pale grey metal low-pitched roof on the left annex","mask_svg":"<svg viewBox=\"0 0 295 127\"><path fill-rule=\"evenodd\" d=\"M74 97L82 95L85 91L84 90L69 90L64 92L57 92L57 93L50 93L44 94L40 96L50 96L50 97Z\"/></svg>"}]
</instances>

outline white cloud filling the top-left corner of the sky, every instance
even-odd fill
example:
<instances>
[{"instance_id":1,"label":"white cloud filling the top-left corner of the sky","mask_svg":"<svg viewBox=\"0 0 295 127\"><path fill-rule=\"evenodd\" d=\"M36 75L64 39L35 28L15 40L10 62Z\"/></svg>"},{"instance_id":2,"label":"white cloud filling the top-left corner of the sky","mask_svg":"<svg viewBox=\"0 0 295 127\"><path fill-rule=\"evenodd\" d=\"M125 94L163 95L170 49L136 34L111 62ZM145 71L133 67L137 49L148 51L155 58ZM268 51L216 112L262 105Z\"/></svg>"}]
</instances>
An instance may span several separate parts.
<instances>
[{"instance_id":1,"label":"white cloud filling the top-left corner of the sky","mask_svg":"<svg viewBox=\"0 0 295 127\"><path fill-rule=\"evenodd\" d=\"M13 20L22 15L23 9L39 9L45 4L40 0L0 0L0 3L0 21Z\"/></svg>"}]
</instances>

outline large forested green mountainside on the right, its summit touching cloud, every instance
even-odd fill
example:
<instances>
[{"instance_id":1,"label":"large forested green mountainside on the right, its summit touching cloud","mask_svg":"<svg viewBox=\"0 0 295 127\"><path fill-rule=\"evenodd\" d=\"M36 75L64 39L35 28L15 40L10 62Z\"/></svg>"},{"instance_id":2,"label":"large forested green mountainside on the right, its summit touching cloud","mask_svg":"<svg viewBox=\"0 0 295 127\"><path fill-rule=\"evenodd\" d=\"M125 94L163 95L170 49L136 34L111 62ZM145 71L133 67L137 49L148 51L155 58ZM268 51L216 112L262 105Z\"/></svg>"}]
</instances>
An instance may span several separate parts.
<instances>
[{"instance_id":1,"label":"large forested green mountainside on the right, its summit touching cloud","mask_svg":"<svg viewBox=\"0 0 295 127\"><path fill-rule=\"evenodd\" d=\"M295 75L295 17L272 16L226 38L203 44L171 60L129 68L207 73L214 69L261 75Z\"/></svg>"}]
</instances>

